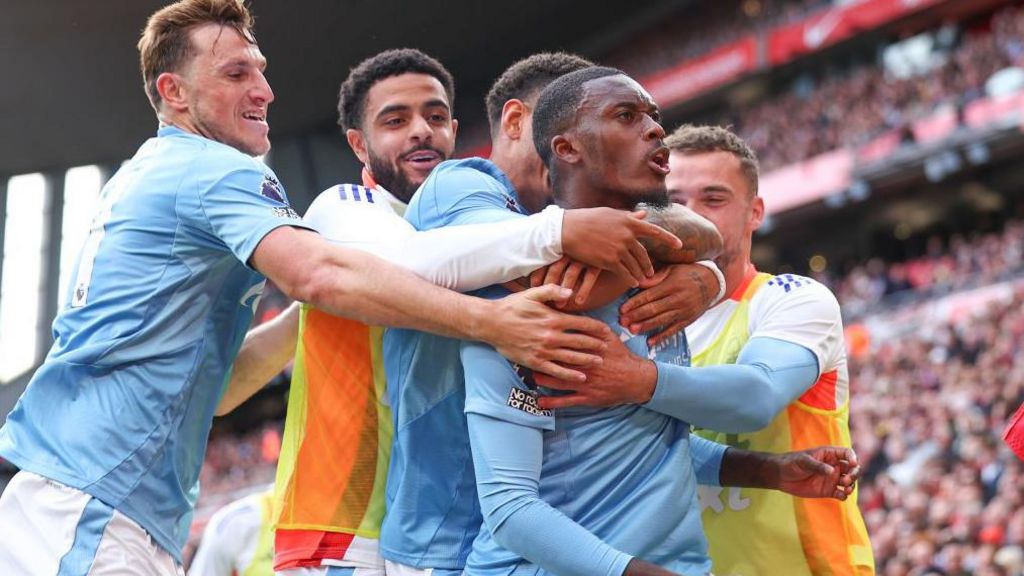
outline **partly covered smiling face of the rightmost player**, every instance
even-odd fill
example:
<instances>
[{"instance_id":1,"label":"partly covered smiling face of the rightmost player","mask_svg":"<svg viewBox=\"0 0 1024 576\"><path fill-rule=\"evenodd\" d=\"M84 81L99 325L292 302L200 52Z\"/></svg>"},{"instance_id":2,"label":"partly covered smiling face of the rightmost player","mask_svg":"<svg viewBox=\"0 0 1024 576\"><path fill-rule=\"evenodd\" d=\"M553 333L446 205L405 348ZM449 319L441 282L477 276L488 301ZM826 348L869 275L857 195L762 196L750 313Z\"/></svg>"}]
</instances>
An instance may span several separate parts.
<instances>
[{"instance_id":1,"label":"partly covered smiling face of the rightmost player","mask_svg":"<svg viewBox=\"0 0 1024 576\"><path fill-rule=\"evenodd\" d=\"M764 216L764 203L752 196L739 159L728 152L673 152L669 165L672 172L666 183L672 201L714 222L722 235L721 268L745 261L751 236Z\"/></svg>"}]
</instances>

